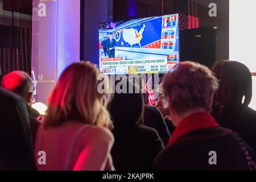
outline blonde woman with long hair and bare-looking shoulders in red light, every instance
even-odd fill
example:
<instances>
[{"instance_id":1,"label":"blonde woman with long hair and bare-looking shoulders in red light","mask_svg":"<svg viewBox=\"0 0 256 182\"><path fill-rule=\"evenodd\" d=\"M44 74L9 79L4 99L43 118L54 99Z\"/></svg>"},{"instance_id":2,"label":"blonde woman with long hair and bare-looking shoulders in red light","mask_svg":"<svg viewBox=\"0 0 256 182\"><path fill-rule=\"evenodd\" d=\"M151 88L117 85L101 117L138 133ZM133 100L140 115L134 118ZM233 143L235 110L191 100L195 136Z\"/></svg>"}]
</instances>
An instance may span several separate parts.
<instances>
[{"instance_id":1,"label":"blonde woman with long hair and bare-looking shoulders in red light","mask_svg":"<svg viewBox=\"0 0 256 182\"><path fill-rule=\"evenodd\" d=\"M49 97L39 126L35 159L39 170L112 170L114 138L106 96L97 92L100 72L88 62L70 65Z\"/></svg>"}]
</instances>

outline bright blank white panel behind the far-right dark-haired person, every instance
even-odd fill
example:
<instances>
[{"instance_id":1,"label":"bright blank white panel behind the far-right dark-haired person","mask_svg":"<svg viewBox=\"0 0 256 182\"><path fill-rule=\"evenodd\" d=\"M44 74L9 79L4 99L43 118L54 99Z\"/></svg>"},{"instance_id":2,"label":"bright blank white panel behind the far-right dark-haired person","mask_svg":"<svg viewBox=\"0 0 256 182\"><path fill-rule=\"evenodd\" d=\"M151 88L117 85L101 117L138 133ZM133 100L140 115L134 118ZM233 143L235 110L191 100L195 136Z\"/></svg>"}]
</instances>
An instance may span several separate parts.
<instances>
[{"instance_id":1,"label":"bright blank white panel behind the far-right dark-haired person","mask_svg":"<svg viewBox=\"0 0 256 182\"><path fill-rule=\"evenodd\" d=\"M237 60L256 73L256 1L229 1L229 59ZM256 110L256 77L253 77L253 100Z\"/></svg>"}]
</instances>

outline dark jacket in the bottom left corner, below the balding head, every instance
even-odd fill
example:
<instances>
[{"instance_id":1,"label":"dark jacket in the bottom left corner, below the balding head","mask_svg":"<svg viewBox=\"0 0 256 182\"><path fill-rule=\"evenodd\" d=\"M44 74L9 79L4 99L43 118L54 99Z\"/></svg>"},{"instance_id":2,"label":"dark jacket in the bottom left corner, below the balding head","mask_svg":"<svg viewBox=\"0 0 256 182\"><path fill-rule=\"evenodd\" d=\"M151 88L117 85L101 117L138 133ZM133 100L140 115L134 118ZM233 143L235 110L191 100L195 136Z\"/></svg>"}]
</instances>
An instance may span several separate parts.
<instances>
[{"instance_id":1,"label":"dark jacket in the bottom left corner, below the balding head","mask_svg":"<svg viewBox=\"0 0 256 182\"><path fill-rule=\"evenodd\" d=\"M0 170L32 170L34 157L26 104L0 88Z\"/></svg>"}]
</instances>

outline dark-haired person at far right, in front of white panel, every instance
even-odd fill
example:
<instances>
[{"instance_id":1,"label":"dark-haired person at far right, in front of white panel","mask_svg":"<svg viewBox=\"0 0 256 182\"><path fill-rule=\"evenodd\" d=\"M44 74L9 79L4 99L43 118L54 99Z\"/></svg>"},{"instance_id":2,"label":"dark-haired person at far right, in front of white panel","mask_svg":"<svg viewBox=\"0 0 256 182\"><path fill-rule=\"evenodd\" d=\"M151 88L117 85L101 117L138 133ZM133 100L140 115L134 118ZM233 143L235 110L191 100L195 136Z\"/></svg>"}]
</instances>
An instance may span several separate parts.
<instances>
[{"instance_id":1,"label":"dark-haired person at far right, in front of white panel","mask_svg":"<svg viewBox=\"0 0 256 182\"><path fill-rule=\"evenodd\" d=\"M213 116L222 127L240 134L256 152L256 111L248 107L252 96L250 70L237 61L220 61L212 71L220 81Z\"/></svg>"}]
</instances>

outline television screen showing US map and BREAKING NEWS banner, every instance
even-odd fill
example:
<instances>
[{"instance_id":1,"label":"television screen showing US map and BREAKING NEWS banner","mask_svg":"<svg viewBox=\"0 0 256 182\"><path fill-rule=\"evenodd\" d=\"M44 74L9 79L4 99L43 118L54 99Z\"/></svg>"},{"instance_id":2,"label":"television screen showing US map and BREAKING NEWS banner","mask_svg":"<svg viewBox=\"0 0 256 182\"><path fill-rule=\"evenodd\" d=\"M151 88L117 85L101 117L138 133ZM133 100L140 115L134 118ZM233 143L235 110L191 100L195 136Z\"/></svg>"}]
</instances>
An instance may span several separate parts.
<instances>
[{"instance_id":1,"label":"television screen showing US map and BREAKING NEWS banner","mask_svg":"<svg viewBox=\"0 0 256 182\"><path fill-rule=\"evenodd\" d=\"M167 73L179 63L179 15L99 24L102 73Z\"/></svg>"}]
</instances>

